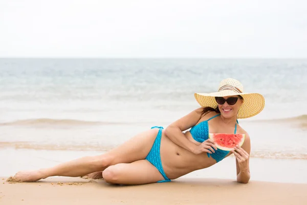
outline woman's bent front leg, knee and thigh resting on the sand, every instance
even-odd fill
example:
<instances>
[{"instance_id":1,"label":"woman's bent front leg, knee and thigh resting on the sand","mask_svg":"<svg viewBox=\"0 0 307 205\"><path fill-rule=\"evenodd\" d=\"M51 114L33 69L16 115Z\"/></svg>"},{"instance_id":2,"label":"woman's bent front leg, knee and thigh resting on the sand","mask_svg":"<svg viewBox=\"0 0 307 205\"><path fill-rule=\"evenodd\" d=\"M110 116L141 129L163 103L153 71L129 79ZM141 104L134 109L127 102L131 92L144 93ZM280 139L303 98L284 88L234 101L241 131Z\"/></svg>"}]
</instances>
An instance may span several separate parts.
<instances>
[{"instance_id":1,"label":"woman's bent front leg, knee and thigh resting on the sand","mask_svg":"<svg viewBox=\"0 0 307 205\"><path fill-rule=\"evenodd\" d=\"M120 185L143 185L164 180L158 169L146 159L110 166L102 175L106 182Z\"/></svg>"}]
</instances>

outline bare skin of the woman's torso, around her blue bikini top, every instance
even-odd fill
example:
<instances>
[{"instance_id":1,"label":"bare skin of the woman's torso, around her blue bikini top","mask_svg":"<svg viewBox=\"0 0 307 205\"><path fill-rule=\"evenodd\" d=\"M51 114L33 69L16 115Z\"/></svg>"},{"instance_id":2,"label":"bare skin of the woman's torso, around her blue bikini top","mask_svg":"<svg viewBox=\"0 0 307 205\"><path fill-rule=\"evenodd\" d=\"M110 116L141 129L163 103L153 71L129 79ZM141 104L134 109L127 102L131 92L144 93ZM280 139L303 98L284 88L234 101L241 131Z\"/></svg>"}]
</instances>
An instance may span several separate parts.
<instances>
[{"instance_id":1,"label":"bare skin of the woman's torso, around her blue bikini top","mask_svg":"<svg viewBox=\"0 0 307 205\"><path fill-rule=\"evenodd\" d=\"M208 120L217 113L211 112L202 117L198 124ZM235 125L233 126L218 126L219 116L208 121L208 128L210 133L234 133ZM198 125L196 124L196 125ZM237 133L240 133L240 127L237 126ZM184 135L193 142L195 145L200 145L201 142L194 140L190 131L186 131ZM164 132L162 132L161 139L161 160L164 172L170 179L178 178L192 171L208 168L216 163L216 160L212 157L208 157L204 152L199 155L179 147L174 144ZM225 157L229 156L227 154Z\"/></svg>"}]
</instances>

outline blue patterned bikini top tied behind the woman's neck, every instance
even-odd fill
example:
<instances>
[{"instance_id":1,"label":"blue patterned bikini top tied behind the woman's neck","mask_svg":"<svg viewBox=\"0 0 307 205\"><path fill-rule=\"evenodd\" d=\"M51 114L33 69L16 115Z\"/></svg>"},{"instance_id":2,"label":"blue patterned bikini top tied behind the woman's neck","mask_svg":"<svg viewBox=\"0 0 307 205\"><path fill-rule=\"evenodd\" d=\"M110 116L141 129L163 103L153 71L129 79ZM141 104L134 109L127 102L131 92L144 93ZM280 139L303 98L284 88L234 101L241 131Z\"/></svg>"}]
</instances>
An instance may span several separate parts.
<instances>
[{"instance_id":1,"label":"blue patterned bikini top tied behind the woman's neck","mask_svg":"<svg viewBox=\"0 0 307 205\"><path fill-rule=\"evenodd\" d=\"M208 126L208 121L210 119L213 119L214 117L217 117L220 114L217 114L208 120L200 122L198 125L193 126L190 129L190 133L193 137L198 142L203 142L209 138L209 126ZM238 122L238 121L237 121ZM234 129L234 134L236 133L236 124L235 124L235 129ZM214 150L215 152L212 154L207 153L208 157L211 157L216 160L216 162L221 161L222 159L225 158L225 156L229 153L229 151L225 150L220 150L217 148L217 150Z\"/></svg>"}]
</instances>

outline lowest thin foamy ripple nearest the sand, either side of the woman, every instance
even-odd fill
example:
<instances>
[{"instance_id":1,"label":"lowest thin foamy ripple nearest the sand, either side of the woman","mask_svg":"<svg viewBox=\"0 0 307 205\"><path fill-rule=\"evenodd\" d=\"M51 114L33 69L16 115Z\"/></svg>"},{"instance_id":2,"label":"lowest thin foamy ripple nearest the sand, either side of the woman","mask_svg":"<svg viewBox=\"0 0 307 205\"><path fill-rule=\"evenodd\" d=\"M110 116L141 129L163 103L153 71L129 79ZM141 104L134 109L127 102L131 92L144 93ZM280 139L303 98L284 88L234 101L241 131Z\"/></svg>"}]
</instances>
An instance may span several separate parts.
<instances>
[{"instance_id":1,"label":"lowest thin foamy ripple nearest the sand, either side of the woman","mask_svg":"<svg viewBox=\"0 0 307 205\"><path fill-rule=\"evenodd\" d=\"M115 146L103 146L99 144L82 144L82 145L57 145L57 144L33 144L30 141L13 141L13 142L0 142L1 148L14 148L14 149L30 149L30 150L61 150L61 151L109 151ZM232 156L232 155L231 155ZM301 151L268 151L268 150L254 150L251 155L254 158L276 158L276 159L304 159L307 160L307 152ZM232 156L233 157L233 156Z\"/></svg>"}]
</instances>

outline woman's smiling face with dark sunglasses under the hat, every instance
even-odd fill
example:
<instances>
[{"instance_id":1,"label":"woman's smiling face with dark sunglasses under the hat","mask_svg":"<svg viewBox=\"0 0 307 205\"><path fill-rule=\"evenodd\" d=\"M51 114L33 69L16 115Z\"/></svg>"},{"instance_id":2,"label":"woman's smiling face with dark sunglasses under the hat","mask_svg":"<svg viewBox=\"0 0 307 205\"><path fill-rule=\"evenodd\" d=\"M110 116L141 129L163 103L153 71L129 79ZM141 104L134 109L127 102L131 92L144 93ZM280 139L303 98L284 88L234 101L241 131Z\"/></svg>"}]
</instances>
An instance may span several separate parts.
<instances>
[{"instance_id":1,"label":"woman's smiling face with dark sunglasses under the hat","mask_svg":"<svg viewBox=\"0 0 307 205\"><path fill-rule=\"evenodd\" d=\"M218 109L221 115L225 118L236 117L239 111L239 107L243 103L243 99L238 95L226 96L226 97L215 97L218 104Z\"/></svg>"}]
</instances>

